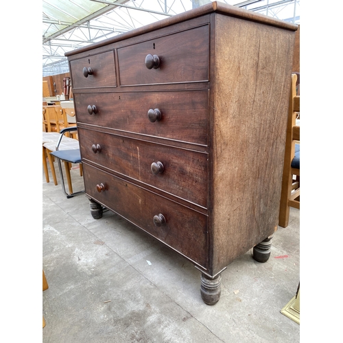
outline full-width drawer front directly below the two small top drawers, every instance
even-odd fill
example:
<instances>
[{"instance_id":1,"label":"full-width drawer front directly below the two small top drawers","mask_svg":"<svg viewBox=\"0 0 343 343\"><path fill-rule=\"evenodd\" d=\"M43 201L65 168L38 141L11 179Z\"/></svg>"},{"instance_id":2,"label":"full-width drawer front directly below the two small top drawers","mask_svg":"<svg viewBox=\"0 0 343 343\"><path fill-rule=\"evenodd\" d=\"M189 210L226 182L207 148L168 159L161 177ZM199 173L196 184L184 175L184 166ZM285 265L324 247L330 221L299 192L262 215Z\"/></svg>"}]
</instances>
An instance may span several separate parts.
<instances>
[{"instance_id":1,"label":"full-width drawer front directly below the two small top drawers","mask_svg":"<svg viewBox=\"0 0 343 343\"><path fill-rule=\"evenodd\" d=\"M75 94L74 98L81 123L207 145L208 90Z\"/></svg>"}]
</instances>

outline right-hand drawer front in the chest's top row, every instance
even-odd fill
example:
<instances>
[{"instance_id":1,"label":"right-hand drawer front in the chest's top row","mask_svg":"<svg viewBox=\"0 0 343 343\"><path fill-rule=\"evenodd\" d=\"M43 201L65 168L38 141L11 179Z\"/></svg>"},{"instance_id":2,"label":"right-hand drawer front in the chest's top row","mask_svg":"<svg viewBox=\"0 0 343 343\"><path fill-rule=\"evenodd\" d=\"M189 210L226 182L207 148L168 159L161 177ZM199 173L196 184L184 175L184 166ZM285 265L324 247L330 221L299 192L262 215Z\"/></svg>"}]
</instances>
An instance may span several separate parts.
<instances>
[{"instance_id":1,"label":"right-hand drawer front in the chest's top row","mask_svg":"<svg viewBox=\"0 0 343 343\"><path fill-rule=\"evenodd\" d=\"M122 47L118 51L120 86L209 80L209 25ZM158 56L148 69L145 58ZM151 65L150 65L151 67Z\"/></svg>"}]
</instances>

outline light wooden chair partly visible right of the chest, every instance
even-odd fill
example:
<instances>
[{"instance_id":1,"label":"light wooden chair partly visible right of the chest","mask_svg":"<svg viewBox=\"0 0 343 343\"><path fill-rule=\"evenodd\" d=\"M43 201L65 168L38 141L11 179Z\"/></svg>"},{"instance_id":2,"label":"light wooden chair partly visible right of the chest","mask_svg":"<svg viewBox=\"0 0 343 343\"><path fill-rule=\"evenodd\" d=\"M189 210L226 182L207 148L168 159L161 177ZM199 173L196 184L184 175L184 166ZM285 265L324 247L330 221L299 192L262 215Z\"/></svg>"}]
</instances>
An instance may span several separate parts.
<instances>
[{"instance_id":1,"label":"light wooden chair partly visible right of the chest","mask_svg":"<svg viewBox=\"0 0 343 343\"><path fill-rule=\"evenodd\" d=\"M300 209L300 126L296 125L300 95L296 94L296 80L297 75L292 74L279 213L279 226L283 228L288 226L289 206Z\"/></svg>"}]
</instances>

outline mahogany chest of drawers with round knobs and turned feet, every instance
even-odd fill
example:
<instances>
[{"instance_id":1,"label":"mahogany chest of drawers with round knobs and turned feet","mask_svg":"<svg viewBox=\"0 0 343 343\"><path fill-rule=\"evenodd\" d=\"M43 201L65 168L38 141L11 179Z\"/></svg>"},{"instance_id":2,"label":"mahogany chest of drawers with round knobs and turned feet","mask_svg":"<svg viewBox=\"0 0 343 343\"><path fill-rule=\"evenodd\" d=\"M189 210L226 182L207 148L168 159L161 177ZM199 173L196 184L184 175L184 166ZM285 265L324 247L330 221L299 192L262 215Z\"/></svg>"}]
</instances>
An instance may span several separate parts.
<instances>
[{"instance_id":1,"label":"mahogany chest of drawers with round knobs and turned feet","mask_svg":"<svg viewBox=\"0 0 343 343\"><path fill-rule=\"evenodd\" d=\"M209 3L67 53L86 196L189 259L201 295L277 228L292 25Z\"/></svg>"}]
</instances>

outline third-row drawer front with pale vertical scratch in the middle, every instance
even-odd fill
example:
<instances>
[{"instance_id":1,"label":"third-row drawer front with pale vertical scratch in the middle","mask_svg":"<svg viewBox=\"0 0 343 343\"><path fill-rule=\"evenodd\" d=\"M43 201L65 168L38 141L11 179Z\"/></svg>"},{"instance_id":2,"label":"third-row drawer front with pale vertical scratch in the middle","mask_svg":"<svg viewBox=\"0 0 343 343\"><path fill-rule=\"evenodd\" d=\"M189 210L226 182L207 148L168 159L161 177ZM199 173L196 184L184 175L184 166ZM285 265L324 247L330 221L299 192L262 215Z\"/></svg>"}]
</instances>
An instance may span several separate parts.
<instances>
[{"instance_id":1,"label":"third-row drawer front with pale vertical scratch in the middle","mask_svg":"<svg viewBox=\"0 0 343 343\"><path fill-rule=\"evenodd\" d=\"M204 152L78 129L82 158L207 208Z\"/></svg>"}]
</instances>

